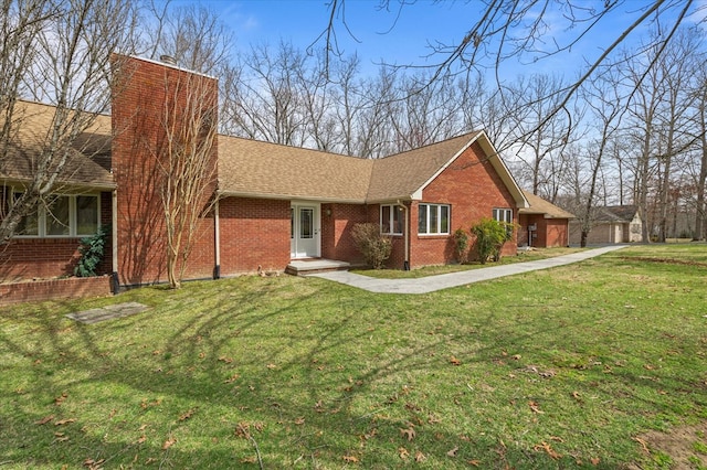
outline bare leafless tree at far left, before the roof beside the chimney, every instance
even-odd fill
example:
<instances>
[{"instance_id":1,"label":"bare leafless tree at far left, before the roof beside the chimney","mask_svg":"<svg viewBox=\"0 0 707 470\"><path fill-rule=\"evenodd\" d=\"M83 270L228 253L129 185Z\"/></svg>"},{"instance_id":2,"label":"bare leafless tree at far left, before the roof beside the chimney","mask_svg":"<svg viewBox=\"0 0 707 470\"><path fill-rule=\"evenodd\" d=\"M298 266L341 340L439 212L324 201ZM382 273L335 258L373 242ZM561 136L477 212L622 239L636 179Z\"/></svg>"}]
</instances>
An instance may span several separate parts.
<instances>
[{"instance_id":1,"label":"bare leafless tree at far left, before the roof beside the chimney","mask_svg":"<svg viewBox=\"0 0 707 470\"><path fill-rule=\"evenodd\" d=\"M2 0L0 10L0 169L32 159L29 181L0 222L0 243L7 243L23 217L46 204L78 137L107 110L119 74L109 57L133 51L137 15L129 0ZM41 133L21 130L30 118L21 97L53 105Z\"/></svg>"}]
</instances>

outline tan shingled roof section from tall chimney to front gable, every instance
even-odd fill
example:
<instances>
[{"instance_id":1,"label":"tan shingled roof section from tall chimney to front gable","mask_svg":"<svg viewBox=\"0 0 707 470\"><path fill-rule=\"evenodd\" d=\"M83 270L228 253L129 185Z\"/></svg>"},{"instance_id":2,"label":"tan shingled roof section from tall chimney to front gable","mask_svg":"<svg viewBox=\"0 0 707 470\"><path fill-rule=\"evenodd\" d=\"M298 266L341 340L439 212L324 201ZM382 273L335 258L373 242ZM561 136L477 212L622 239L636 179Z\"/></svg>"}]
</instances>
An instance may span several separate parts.
<instances>
[{"instance_id":1,"label":"tan shingled roof section from tall chimney to front gable","mask_svg":"<svg viewBox=\"0 0 707 470\"><path fill-rule=\"evenodd\" d=\"M220 136L219 191L358 204L411 200L474 142L525 206L520 189L482 131L377 160Z\"/></svg>"}]
</instances>

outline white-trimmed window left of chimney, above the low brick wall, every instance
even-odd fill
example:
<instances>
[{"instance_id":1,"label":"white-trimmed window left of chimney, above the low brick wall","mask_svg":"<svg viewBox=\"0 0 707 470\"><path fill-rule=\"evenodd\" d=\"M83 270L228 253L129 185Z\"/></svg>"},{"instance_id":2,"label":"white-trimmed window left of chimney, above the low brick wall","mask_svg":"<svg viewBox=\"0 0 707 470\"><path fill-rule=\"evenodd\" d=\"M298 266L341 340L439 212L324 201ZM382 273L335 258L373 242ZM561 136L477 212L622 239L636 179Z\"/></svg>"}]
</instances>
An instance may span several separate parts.
<instances>
[{"instance_id":1,"label":"white-trimmed window left of chimney, above the low brick wall","mask_svg":"<svg viewBox=\"0 0 707 470\"><path fill-rule=\"evenodd\" d=\"M13 200L22 193L13 192ZM95 235L101 221L98 194L52 194L45 206L20 221L22 237L82 237Z\"/></svg>"}]
</instances>

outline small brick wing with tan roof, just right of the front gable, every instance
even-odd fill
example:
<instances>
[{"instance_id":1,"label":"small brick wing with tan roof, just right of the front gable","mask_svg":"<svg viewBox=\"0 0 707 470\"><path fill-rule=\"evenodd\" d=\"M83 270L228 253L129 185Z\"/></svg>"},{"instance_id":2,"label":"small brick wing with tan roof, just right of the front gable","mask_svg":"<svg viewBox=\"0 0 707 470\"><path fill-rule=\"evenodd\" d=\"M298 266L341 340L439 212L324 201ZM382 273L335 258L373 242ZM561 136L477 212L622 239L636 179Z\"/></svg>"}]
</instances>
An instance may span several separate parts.
<instances>
[{"instance_id":1,"label":"small brick wing with tan roof, just right of the front gable","mask_svg":"<svg viewBox=\"0 0 707 470\"><path fill-rule=\"evenodd\" d=\"M569 223L574 215L527 191L524 195L530 206L518 210L518 246L569 246Z\"/></svg>"}]
</instances>

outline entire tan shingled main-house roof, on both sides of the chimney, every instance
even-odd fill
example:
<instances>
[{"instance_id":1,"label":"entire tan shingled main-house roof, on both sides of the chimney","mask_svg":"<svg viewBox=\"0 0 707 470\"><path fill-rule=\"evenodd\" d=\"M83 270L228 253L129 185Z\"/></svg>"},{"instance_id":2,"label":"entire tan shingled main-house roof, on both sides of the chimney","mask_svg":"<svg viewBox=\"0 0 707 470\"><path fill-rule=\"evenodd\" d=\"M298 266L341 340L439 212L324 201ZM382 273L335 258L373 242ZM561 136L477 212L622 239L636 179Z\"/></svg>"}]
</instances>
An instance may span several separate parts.
<instances>
[{"instance_id":1,"label":"entire tan shingled main-house roof, on both sides of the chimney","mask_svg":"<svg viewBox=\"0 0 707 470\"><path fill-rule=\"evenodd\" d=\"M23 124L12 158L0 179L29 182L54 107L22 102ZM78 136L57 182L113 189L110 117L99 115ZM422 190L464 150L478 143L519 207L527 200L483 131L371 160L257 140L219 136L219 192L222 195L312 201L377 203L420 199Z\"/></svg>"}]
</instances>

